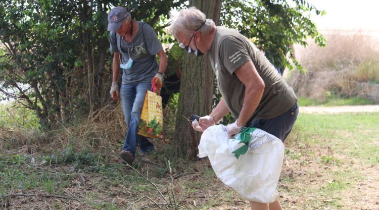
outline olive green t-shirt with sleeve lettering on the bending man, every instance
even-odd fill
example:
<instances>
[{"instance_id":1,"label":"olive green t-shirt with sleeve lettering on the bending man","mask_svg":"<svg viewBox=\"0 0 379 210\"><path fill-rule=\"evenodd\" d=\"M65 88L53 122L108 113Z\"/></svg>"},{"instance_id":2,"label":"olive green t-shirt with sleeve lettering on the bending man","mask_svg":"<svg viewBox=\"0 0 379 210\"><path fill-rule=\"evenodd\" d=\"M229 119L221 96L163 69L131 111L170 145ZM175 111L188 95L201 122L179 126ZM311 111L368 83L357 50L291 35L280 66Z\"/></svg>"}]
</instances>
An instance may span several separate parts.
<instances>
[{"instance_id":1,"label":"olive green t-shirt with sleeve lettering on the bending man","mask_svg":"<svg viewBox=\"0 0 379 210\"><path fill-rule=\"evenodd\" d=\"M253 62L265 84L262 99L251 116L253 121L277 117L298 100L294 90L257 46L238 31L217 27L209 53L218 88L234 118L239 117L245 98L245 85L234 71L249 61Z\"/></svg>"}]
</instances>

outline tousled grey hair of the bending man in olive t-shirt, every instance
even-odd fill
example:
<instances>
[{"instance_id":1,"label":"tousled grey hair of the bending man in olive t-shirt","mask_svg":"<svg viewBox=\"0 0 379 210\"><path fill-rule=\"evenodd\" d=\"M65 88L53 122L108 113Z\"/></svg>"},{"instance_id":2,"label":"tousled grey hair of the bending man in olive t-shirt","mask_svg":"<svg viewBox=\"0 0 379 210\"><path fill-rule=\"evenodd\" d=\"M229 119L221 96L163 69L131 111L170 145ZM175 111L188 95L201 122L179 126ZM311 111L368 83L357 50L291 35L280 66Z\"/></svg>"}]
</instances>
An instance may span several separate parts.
<instances>
[{"instance_id":1,"label":"tousled grey hair of the bending man in olive t-shirt","mask_svg":"<svg viewBox=\"0 0 379 210\"><path fill-rule=\"evenodd\" d=\"M189 33L200 28L201 33L208 34L214 27L216 24L212 19L207 19L205 14L196 7L190 7L179 12L179 15L168 28L168 32L176 38L178 33L182 31Z\"/></svg>"}]
</instances>

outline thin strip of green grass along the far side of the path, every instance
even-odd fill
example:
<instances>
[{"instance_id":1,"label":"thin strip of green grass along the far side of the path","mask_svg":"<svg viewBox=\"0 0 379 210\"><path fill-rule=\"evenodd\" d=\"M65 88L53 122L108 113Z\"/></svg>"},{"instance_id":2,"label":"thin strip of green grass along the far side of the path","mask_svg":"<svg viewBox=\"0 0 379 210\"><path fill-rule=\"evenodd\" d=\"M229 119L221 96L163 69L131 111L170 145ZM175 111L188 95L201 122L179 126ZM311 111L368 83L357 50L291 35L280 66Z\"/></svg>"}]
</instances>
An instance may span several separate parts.
<instances>
[{"instance_id":1,"label":"thin strip of green grass along the far side of the path","mask_svg":"<svg viewBox=\"0 0 379 210\"><path fill-rule=\"evenodd\" d=\"M299 97L299 106L301 107L310 107L310 106L352 106L352 105L367 105L374 104L374 102L366 100L360 97L350 97L350 98L341 98L341 97L328 97L326 101L320 102L317 99Z\"/></svg>"}]
</instances>

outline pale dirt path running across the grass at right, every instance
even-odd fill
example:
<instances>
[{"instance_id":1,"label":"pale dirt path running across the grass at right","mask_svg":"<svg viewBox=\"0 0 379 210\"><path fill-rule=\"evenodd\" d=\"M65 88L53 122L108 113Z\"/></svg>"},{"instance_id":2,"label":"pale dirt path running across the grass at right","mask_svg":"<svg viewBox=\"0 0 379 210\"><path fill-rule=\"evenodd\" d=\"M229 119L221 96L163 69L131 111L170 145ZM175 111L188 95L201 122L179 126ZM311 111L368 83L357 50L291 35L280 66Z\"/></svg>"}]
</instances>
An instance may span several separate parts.
<instances>
[{"instance_id":1,"label":"pale dirt path running across the grass at right","mask_svg":"<svg viewBox=\"0 0 379 210\"><path fill-rule=\"evenodd\" d=\"M300 107L300 113L307 114L338 114L353 112L379 112L379 105L335 106L335 107Z\"/></svg>"}]
</instances>

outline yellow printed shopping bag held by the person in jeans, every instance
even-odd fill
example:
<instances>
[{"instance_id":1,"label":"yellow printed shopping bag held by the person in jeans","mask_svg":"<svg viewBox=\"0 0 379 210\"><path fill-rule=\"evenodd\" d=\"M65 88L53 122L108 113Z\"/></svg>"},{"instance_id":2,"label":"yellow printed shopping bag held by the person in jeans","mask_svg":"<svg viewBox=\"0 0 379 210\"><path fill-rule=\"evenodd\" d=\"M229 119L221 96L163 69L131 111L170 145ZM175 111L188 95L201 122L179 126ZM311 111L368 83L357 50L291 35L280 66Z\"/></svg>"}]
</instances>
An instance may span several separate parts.
<instances>
[{"instance_id":1,"label":"yellow printed shopping bag held by the person in jeans","mask_svg":"<svg viewBox=\"0 0 379 210\"><path fill-rule=\"evenodd\" d=\"M162 97L157 95L152 83L152 91L147 90L139 120L137 134L148 138L161 138L163 129Z\"/></svg>"}]
</instances>

